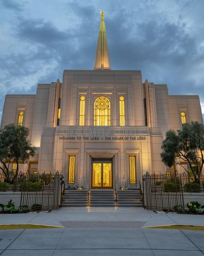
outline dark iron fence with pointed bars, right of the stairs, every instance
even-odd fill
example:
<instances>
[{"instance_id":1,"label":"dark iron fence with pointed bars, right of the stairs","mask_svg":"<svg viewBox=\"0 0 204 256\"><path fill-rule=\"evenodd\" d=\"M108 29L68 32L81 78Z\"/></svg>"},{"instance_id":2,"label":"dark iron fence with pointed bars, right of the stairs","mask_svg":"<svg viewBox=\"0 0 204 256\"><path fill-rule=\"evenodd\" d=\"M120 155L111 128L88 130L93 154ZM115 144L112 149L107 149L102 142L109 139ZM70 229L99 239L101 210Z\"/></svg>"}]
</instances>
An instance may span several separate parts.
<instances>
[{"instance_id":1,"label":"dark iron fence with pointed bars, right of the stairs","mask_svg":"<svg viewBox=\"0 0 204 256\"><path fill-rule=\"evenodd\" d=\"M173 211L176 205L184 208L184 192L204 192L204 176L198 179L190 173L174 175L146 173L142 182L143 204L149 210Z\"/></svg>"}]
</instances>

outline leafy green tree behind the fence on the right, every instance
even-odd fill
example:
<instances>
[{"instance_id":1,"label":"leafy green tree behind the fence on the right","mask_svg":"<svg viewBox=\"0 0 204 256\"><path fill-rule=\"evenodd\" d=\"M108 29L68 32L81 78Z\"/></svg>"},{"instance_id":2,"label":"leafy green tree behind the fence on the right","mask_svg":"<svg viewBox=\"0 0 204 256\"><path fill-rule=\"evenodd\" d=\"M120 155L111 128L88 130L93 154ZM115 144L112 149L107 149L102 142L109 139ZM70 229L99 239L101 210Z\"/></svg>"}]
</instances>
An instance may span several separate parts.
<instances>
[{"instance_id":1,"label":"leafy green tree behind the fence on the right","mask_svg":"<svg viewBox=\"0 0 204 256\"><path fill-rule=\"evenodd\" d=\"M204 165L204 125L199 122L191 122L183 125L182 130L177 133L173 130L167 131L166 139L162 142L162 162L167 166L173 163L180 164L180 160L189 163L190 172L182 166L186 172L193 175L194 181L200 182L200 175ZM200 168L195 168L192 164Z\"/></svg>"}]
</instances>

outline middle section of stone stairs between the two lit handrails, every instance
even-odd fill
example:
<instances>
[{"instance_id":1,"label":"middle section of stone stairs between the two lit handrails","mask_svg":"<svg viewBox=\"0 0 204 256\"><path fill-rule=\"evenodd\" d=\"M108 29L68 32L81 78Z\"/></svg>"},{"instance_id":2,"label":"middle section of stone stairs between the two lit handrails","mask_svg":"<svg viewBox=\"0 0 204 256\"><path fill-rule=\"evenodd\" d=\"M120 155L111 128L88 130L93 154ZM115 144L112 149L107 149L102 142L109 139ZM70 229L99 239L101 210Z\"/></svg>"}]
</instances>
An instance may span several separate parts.
<instances>
[{"instance_id":1,"label":"middle section of stone stairs between the two lit handrails","mask_svg":"<svg viewBox=\"0 0 204 256\"><path fill-rule=\"evenodd\" d=\"M115 207L115 192L113 190L90 191L90 207Z\"/></svg>"}]
</instances>

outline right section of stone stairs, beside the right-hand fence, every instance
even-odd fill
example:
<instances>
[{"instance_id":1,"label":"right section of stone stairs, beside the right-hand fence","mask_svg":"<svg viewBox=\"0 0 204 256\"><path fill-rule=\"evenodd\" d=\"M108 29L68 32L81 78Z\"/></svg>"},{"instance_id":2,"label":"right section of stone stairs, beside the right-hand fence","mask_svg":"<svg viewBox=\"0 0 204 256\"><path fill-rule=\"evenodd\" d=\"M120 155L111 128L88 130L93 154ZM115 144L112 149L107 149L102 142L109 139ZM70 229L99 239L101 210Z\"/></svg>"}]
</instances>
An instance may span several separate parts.
<instances>
[{"instance_id":1,"label":"right section of stone stairs, beside the right-hand fence","mask_svg":"<svg viewBox=\"0 0 204 256\"><path fill-rule=\"evenodd\" d=\"M117 190L117 207L143 207L139 190Z\"/></svg>"}]
</instances>

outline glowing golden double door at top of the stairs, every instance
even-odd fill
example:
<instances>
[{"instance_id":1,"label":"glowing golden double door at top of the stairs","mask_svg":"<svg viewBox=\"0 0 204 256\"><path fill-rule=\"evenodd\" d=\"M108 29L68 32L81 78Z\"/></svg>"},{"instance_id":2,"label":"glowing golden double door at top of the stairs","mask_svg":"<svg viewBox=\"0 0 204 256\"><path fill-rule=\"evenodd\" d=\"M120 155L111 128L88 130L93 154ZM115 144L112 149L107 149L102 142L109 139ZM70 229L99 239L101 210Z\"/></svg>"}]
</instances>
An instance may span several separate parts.
<instances>
[{"instance_id":1,"label":"glowing golden double door at top of the stairs","mask_svg":"<svg viewBox=\"0 0 204 256\"><path fill-rule=\"evenodd\" d=\"M92 189L112 189L112 162L92 162Z\"/></svg>"}]
</instances>

